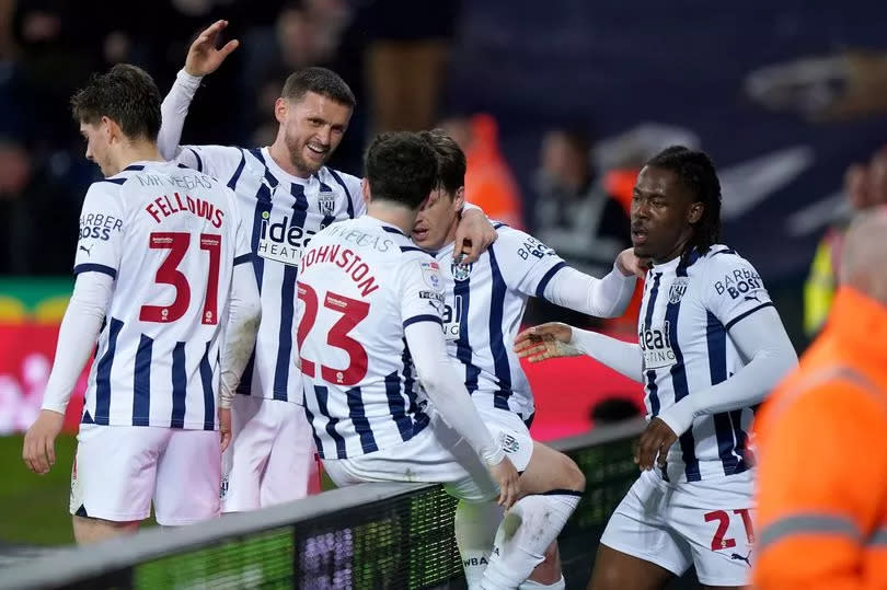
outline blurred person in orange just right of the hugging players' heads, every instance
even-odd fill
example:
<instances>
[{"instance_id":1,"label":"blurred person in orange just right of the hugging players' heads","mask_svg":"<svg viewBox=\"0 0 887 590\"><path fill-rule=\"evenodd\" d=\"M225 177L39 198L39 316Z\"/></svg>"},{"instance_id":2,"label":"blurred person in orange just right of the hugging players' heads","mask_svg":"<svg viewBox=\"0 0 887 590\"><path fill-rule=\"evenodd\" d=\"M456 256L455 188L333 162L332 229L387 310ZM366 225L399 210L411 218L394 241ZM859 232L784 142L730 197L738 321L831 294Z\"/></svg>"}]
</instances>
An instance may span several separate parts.
<instances>
[{"instance_id":1,"label":"blurred person in orange just right of the hugging players' heads","mask_svg":"<svg viewBox=\"0 0 887 590\"><path fill-rule=\"evenodd\" d=\"M523 229L520 192L499 150L496 119L487 114L454 116L440 127L465 152L465 200L491 219Z\"/></svg>"}]
</instances>

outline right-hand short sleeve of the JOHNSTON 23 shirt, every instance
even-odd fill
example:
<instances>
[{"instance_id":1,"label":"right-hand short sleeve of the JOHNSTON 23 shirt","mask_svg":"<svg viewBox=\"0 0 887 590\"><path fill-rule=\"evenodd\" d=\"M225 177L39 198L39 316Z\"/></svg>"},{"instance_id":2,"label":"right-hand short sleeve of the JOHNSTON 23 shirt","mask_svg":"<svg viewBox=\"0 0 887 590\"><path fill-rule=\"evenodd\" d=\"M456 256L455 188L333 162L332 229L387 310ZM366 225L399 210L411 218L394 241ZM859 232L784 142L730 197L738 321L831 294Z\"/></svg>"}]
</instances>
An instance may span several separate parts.
<instances>
[{"instance_id":1,"label":"right-hand short sleeve of the JOHNSTON 23 shirt","mask_svg":"<svg viewBox=\"0 0 887 590\"><path fill-rule=\"evenodd\" d=\"M444 325L444 279L437 262L426 254L405 255L400 273L403 327L416 322Z\"/></svg>"}]
</instances>

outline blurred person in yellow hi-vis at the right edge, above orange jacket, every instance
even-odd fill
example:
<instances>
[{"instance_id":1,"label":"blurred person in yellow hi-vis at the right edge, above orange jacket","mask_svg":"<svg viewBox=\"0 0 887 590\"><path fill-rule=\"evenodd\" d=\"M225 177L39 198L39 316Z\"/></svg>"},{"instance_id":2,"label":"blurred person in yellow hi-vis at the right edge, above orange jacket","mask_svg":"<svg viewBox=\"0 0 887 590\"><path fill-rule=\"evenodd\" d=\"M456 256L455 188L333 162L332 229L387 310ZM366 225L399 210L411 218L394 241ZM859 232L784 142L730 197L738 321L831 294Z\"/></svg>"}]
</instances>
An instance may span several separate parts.
<instances>
[{"instance_id":1,"label":"blurred person in yellow hi-vis at the right edge, above orange jacket","mask_svg":"<svg viewBox=\"0 0 887 590\"><path fill-rule=\"evenodd\" d=\"M815 336L828 317L840 271L841 246L850 217L878 204L887 204L887 149L872 158L868 166L853 164L844 173L848 207L826 231L814 254L804 282L804 332Z\"/></svg>"}]
</instances>

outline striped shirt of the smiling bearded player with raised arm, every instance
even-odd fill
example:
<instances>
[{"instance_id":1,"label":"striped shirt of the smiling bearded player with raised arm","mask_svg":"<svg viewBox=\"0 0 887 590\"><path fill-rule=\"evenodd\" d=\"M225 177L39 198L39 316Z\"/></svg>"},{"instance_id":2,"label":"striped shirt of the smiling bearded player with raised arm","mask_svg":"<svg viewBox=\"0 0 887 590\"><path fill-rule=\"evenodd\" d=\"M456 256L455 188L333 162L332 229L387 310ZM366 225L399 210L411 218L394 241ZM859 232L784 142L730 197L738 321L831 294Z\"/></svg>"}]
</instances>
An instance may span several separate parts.
<instances>
[{"instance_id":1,"label":"striped shirt of the smiling bearded player with raised arm","mask_svg":"<svg viewBox=\"0 0 887 590\"><path fill-rule=\"evenodd\" d=\"M233 188L251 235L262 323L238 393L300 403L292 363L299 258L318 231L366 211L360 180L325 166L310 178L292 176L267 148L183 146L176 161Z\"/></svg>"}]
</instances>

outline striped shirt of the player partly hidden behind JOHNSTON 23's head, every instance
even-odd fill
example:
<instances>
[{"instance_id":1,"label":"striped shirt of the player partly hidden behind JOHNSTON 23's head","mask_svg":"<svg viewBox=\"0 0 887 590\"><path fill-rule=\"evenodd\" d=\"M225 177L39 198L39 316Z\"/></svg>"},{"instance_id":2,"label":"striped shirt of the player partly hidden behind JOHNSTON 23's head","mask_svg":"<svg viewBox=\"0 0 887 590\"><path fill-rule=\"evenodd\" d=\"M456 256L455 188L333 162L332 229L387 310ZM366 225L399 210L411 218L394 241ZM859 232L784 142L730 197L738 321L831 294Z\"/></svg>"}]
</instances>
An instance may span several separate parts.
<instances>
[{"instance_id":1,"label":"striped shirt of the player partly hidden behind JOHNSTON 23's head","mask_svg":"<svg viewBox=\"0 0 887 590\"><path fill-rule=\"evenodd\" d=\"M543 297L554 275L566 266L535 238L494 223L498 239L470 265L452 263L453 245L436 254L447 304L447 349L465 371L465 387L479 408L519 414L534 412L527 375L512 350L527 300Z\"/></svg>"}]
</instances>

